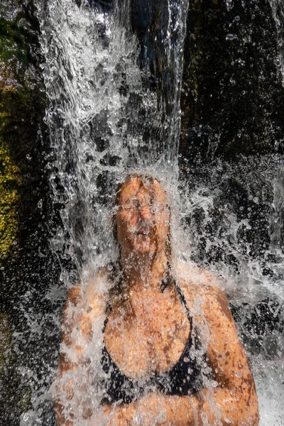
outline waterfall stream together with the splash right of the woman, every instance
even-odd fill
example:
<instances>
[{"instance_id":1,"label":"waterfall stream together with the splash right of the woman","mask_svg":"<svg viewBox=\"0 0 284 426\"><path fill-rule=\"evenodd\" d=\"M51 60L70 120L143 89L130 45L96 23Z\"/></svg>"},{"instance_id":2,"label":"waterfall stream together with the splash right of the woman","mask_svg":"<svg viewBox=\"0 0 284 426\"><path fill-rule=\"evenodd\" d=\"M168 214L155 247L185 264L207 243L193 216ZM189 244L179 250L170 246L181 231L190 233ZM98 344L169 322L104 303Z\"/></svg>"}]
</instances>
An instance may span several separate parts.
<instances>
[{"instance_id":1,"label":"waterfall stream together with the splash right of the woman","mask_svg":"<svg viewBox=\"0 0 284 426\"><path fill-rule=\"evenodd\" d=\"M158 177L172 206L175 258L210 268L221 280L251 360L260 424L284 425L281 159L268 155L258 170L250 160L236 165L218 160L200 165L199 176L190 173L190 166L180 175L180 87L189 4L160 0L156 6L160 13L150 0L145 4L146 30L138 36L130 29L130 0L86 1L80 6L72 0L37 1L49 101L45 121L53 151L50 186L62 224L50 243L62 263L60 283L50 288L48 297L65 297L64 289L78 280L87 283L118 257L113 202L126 175L143 171ZM150 24L155 37L148 32ZM236 177L248 191L248 202L237 213L228 195ZM274 182L272 202L268 182ZM258 206L271 240L257 241L262 249L256 253L248 212L253 215ZM258 315L263 300L267 311ZM266 327L263 319L271 316L276 326ZM89 351L94 374L99 374L102 322L95 332ZM96 381L89 383L86 371L80 375L77 386L89 386L86 403L99 410ZM35 391L33 410L22 416L21 426L43 424L42 402L53 399L55 382L45 393Z\"/></svg>"}]
</instances>

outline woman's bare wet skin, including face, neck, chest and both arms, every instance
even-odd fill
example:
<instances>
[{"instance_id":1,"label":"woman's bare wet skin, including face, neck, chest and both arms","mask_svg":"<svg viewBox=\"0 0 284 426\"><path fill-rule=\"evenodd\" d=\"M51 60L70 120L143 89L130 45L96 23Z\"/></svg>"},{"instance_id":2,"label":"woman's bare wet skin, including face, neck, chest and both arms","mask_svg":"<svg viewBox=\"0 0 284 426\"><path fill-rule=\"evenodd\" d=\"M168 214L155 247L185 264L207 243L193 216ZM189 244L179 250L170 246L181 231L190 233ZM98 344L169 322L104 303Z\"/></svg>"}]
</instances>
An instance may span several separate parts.
<instances>
[{"instance_id":1,"label":"woman's bare wet skin, including face, neck, chest and both arms","mask_svg":"<svg viewBox=\"0 0 284 426\"><path fill-rule=\"evenodd\" d=\"M121 246L121 268L127 297L111 300L112 310L104 330L104 344L117 366L127 376L143 378L153 371L175 365L190 336L190 323L174 285L164 292L169 253L170 212L159 182L133 177L121 187L116 206L117 236ZM103 279L104 272L101 277ZM139 415L141 426L153 425L258 425L258 402L244 348L239 341L229 305L213 275L189 266L178 266L175 275L187 306L207 339L207 356L217 386L196 395L178 396L150 393L135 403L108 405L104 417L94 420L86 411L89 425L131 425ZM84 293L84 294L83 294ZM121 300L124 300L122 302ZM128 304L125 302L128 300ZM130 307L130 309L129 309ZM72 362L62 353L60 375L80 368L84 346L92 340L92 325L104 315L104 297L96 284L87 290L77 285L70 291L65 309L63 342L71 349ZM72 339L79 324L84 345ZM75 360L75 361L74 361ZM70 397L76 392L70 383ZM58 397L58 424L66 420ZM159 419L163 413L163 419ZM137 423L136 423L137 424Z\"/></svg>"}]
</instances>

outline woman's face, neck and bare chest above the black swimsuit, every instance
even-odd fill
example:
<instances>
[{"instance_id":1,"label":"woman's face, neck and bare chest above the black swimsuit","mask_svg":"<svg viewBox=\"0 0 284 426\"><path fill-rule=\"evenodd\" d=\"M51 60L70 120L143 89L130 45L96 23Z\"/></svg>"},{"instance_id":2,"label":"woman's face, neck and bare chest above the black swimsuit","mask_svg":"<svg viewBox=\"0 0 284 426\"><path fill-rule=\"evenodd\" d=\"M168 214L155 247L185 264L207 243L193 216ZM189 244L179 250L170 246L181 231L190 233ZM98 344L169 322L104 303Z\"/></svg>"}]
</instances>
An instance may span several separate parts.
<instances>
[{"instance_id":1,"label":"woman's face, neck and bare chest above the black swimsuit","mask_svg":"<svg viewBox=\"0 0 284 426\"><path fill-rule=\"evenodd\" d=\"M121 310L112 310L104 342L121 371L135 378L176 364L190 335L175 287L160 290L169 222L165 192L157 181L144 187L134 178L121 188L116 226L132 312L131 321L124 321Z\"/></svg>"}]
</instances>

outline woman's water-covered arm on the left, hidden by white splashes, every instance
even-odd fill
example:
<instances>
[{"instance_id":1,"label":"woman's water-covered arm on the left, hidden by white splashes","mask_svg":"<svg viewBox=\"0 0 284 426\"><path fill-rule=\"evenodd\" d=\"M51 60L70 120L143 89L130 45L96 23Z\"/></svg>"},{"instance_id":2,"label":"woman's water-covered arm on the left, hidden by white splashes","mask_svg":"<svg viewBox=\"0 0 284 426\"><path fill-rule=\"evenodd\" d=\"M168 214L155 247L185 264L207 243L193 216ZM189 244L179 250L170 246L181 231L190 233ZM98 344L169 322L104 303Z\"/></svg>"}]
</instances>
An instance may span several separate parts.
<instances>
[{"instance_id":1,"label":"woman's water-covered arm on the left, hidden by white splashes","mask_svg":"<svg viewBox=\"0 0 284 426\"><path fill-rule=\"evenodd\" d=\"M104 312L102 296L95 293L94 283L83 288L71 288L62 318L62 342L56 391L55 410L58 426L73 426L78 419L89 418L92 413L84 401L87 399L88 365L87 346L92 338L92 326Z\"/></svg>"}]
</instances>

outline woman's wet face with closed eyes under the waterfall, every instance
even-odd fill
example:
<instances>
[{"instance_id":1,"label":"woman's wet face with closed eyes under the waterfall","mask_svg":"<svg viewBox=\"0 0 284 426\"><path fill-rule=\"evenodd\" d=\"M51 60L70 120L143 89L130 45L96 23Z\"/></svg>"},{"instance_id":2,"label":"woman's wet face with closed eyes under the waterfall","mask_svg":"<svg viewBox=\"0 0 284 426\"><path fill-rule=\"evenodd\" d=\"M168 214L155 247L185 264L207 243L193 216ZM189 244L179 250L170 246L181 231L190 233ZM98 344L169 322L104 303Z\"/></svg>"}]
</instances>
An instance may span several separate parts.
<instances>
[{"instance_id":1,"label":"woman's wet face with closed eyes under the waterfall","mask_svg":"<svg viewBox=\"0 0 284 426\"><path fill-rule=\"evenodd\" d=\"M121 248L151 253L165 248L170 213L165 191L157 180L141 183L132 178L121 188L116 212L117 236Z\"/></svg>"}]
</instances>

